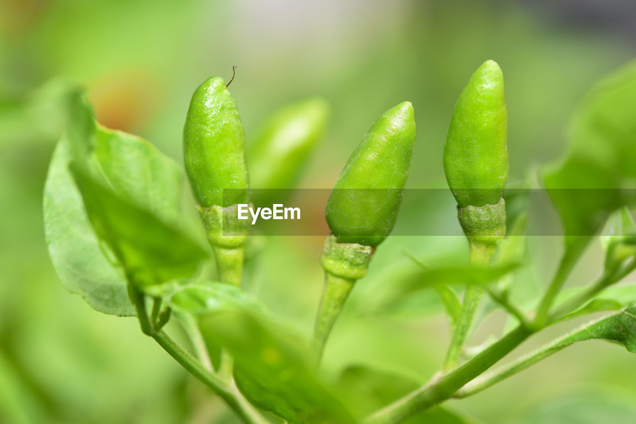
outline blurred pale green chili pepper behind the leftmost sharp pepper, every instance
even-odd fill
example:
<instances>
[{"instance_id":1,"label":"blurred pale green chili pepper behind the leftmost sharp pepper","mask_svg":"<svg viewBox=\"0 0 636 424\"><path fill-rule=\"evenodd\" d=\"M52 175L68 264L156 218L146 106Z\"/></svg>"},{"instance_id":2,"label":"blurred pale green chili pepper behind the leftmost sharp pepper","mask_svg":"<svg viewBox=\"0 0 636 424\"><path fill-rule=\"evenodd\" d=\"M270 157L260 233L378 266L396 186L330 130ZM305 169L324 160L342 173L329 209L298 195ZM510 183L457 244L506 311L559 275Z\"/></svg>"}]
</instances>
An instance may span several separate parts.
<instances>
[{"instance_id":1,"label":"blurred pale green chili pepper behind the leftmost sharp pepper","mask_svg":"<svg viewBox=\"0 0 636 424\"><path fill-rule=\"evenodd\" d=\"M263 124L247 149L253 200L266 203L266 191L291 189L324 133L329 105L319 97L282 107Z\"/></svg>"}]
</instances>

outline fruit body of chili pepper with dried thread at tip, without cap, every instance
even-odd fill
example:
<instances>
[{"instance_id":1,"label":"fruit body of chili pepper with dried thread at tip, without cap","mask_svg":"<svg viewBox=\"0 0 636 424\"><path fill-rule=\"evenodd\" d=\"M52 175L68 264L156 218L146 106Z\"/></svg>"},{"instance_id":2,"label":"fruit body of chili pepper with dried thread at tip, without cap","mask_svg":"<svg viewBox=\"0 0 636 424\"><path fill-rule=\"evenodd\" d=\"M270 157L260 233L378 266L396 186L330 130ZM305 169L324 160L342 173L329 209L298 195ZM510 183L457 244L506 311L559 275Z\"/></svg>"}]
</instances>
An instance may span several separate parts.
<instances>
[{"instance_id":1,"label":"fruit body of chili pepper with dried thread at tip, without cap","mask_svg":"<svg viewBox=\"0 0 636 424\"><path fill-rule=\"evenodd\" d=\"M192 95L183 130L186 174L202 207L247 203L245 133L223 78L213 76ZM223 189L226 191L225 198Z\"/></svg>"}]
</instances>

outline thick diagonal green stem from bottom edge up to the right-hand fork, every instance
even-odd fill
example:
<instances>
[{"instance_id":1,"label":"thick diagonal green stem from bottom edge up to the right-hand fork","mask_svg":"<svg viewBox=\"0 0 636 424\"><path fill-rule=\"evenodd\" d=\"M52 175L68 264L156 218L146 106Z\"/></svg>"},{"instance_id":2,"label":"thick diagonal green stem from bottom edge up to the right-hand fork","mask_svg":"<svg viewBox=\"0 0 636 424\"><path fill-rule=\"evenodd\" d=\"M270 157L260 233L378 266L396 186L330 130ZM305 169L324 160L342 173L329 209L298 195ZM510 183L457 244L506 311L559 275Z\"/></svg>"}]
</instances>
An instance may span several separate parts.
<instances>
[{"instance_id":1,"label":"thick diagonal green stem from bottom edge up to the right-hand fork","mask_svg":"<svg viewBox=\"0 0 636 424\"><path fill-rule=\"evenodd\" d=\"M516 327L516 329L478 353L462 366L441 376L438 380L432 381L429 385L409 393L391 405L380 409L380 411L364 420L364 424L396 424L413 416L413 414L449 399L453 393L492 367L533 332L522 325Z\"/></svg>"}]
</instances>

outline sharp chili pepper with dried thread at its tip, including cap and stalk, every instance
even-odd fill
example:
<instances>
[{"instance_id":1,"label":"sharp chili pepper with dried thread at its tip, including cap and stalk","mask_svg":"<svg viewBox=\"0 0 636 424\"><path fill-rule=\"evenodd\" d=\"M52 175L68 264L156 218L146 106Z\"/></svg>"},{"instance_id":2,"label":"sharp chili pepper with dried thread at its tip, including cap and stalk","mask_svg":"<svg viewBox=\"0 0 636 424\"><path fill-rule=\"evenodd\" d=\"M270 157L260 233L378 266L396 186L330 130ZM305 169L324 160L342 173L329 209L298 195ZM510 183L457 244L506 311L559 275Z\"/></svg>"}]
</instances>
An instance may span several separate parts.
<instances>
[{"instance_id":1,"label":"sharp chili pepper with dried thread at its tip, including cap and stalk","mask_svg":"<svg viewBox=\"0 0 636 424\"><path fill-rule=\"evenodd\" d=\"M238 203L247 203L245 133L223 78L205 80L192 95L183 153L219 279L239 285L247 238L247 221L237 217Z\"/></svg>"}]
</instances>

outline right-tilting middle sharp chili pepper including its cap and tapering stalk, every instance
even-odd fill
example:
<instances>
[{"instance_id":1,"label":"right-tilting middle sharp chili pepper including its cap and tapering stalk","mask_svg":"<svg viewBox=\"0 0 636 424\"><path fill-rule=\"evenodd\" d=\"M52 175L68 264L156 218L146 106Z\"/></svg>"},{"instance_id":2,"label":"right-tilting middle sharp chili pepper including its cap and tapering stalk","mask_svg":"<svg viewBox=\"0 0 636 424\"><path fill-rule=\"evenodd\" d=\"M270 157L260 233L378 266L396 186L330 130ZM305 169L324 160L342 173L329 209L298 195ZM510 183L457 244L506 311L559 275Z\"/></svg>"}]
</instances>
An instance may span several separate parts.
<instances>
[{"instance_id":1,"label":"right-tilting middle sharp chili pepper including its cap and tapering stalk","mask_svg":"<svg viewBox=\"0 0 636 424\"><path fill-rule=\"evenodd\" d=\"M333 234L321 256L325 285L313 341L317 362L354 283L366 275L375 247L393 228L414 144L413 105L403 102L371 126L329 196L326 217Z\"/></svg>"}]
</instances>

